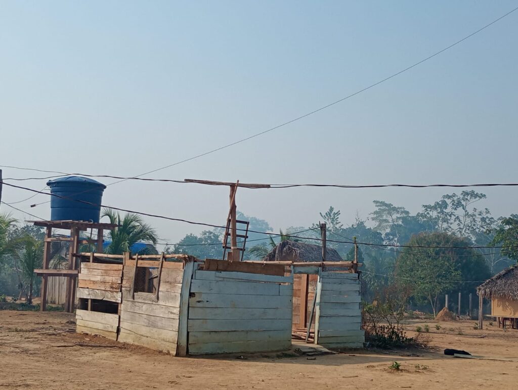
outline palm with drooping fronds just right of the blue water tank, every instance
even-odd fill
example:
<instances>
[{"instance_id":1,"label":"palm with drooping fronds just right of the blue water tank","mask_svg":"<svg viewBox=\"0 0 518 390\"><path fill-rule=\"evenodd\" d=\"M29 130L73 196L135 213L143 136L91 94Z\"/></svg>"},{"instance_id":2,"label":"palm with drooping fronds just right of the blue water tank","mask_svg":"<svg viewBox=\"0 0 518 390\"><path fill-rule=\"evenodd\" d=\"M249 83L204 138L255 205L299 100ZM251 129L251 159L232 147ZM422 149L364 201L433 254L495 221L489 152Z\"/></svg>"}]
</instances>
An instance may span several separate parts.
<instances>
[{"instance_id":1,"label":"palm with drooping fronds just right of the blue water tank","mask_svg":"<svg viewBox=\"0 0 518 390\"><path fill-rule=\"evenodd\" d=\"M104 216L110 219L110 223L119 225L110 230L111 243L104 250L105 253L123 254L130 252L136 242L151 242L156 245L159 240L156 230L138 214L126 213L121 218L119 212L103 209L102 217Z\"/></svg>"}]
</instances>

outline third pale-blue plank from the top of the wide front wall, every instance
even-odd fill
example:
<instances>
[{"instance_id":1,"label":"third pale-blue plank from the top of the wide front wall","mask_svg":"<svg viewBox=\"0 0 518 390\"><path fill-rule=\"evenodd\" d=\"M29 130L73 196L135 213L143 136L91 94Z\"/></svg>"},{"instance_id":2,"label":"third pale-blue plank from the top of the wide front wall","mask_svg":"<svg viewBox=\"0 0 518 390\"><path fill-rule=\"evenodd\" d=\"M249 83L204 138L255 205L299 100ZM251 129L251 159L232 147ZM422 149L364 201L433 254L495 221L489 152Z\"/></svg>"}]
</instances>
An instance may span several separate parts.
<instances>
[{"instance_id":1,"label":"third pale-blue plank from the top of the wide front wall","mask_svg":"<svg viewBox=\"0 0 518 390\"><path fill-rule=\"evenodd\" d=\"M289 295L234 295L191 293L189 307L214 308L291 308L292 297Z\"/></svg>"}]
</instances>

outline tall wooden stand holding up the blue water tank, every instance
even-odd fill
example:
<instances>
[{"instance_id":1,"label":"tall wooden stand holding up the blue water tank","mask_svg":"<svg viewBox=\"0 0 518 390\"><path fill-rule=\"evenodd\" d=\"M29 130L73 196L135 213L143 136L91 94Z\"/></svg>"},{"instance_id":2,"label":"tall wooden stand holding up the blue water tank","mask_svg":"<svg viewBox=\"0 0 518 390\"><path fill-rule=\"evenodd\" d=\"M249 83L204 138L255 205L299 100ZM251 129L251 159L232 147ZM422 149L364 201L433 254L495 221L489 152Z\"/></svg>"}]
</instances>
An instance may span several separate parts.
<instances>
[{"instance_id":1,"label":"tall wooden stand holding up the blue water tank","mask_svg":"<svg viewBox=\"0 0 518 390\"><path fill-rule=\"evenodd\" d=\"M43 265L42 269L36 269L35 273L41 276L41 304L40 310L45 311L47 308L47 290L48 290L48 277L64 277L66 278L66 294L65 294L65 311L71 313L74 311L76 302L76 279L78 276L78 262L76 260L77 253L79 252L79 245L82 242L80 240L80 233L88 229L97 230L97 251L103 251L103 234L106 229L113 229L117 225L111 223L95 223L85 221L29 221L35 226L43 226L46 228L44 252L43 252ZM65 229L70 230L70 236L66 237L60 235L58 237L52 236L52 229ZM91 230L92 231L92 230ZM65 241L69 243L68 249L68 267L67 269L50 269L51 261L51 244L56 241Z\"/></svg>"}]
</instances>

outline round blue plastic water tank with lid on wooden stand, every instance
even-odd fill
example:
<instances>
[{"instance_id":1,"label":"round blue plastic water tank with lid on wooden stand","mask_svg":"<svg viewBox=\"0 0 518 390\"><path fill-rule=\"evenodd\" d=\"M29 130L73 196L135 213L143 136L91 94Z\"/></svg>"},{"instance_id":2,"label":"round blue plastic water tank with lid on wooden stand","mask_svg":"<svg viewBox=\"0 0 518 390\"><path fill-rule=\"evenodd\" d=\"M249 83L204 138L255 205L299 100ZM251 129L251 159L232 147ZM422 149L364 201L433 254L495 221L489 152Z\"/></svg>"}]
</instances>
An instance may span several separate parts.
<instances>
[{"instance_id":1,"label":"round blue plastic water tank with lid on wooden stand","mask_svg":"<svg viewBox=\"0 0 518 390\"><path fill-rule=\"evenodd\" d=\"M49 180L47 185L50 187L51 194L60 196L52 196L50 200L50 219L52 221L99 222L100 204L106 185L79 176Z\"/></svg>"}]
</instances>

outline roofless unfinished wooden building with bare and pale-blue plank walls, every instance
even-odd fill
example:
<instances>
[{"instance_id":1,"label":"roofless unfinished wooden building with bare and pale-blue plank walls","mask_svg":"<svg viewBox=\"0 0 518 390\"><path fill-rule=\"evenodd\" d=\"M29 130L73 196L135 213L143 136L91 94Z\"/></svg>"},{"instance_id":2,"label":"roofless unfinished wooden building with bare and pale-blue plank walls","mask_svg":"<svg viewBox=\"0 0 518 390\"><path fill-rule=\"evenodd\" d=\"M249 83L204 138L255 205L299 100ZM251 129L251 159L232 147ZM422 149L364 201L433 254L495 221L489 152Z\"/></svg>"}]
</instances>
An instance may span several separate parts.
<instances>
[{"instance_id":1,"label":"roofless unfinished wooden building with bare and pale-blue plank walls","mask_svg":"<svg viewBox=\"0 0 518 390\"><path fill-rule=\"evenodd\" d=\"M359 280L350 262L102 253L81 258L79 332L179 356L289 349L294 280L303 275L315 279L315 298L308 299L314 342L329 348L363 346ZM328 271L328 266L340 271Z\"/></svg>"}]
</instances>

